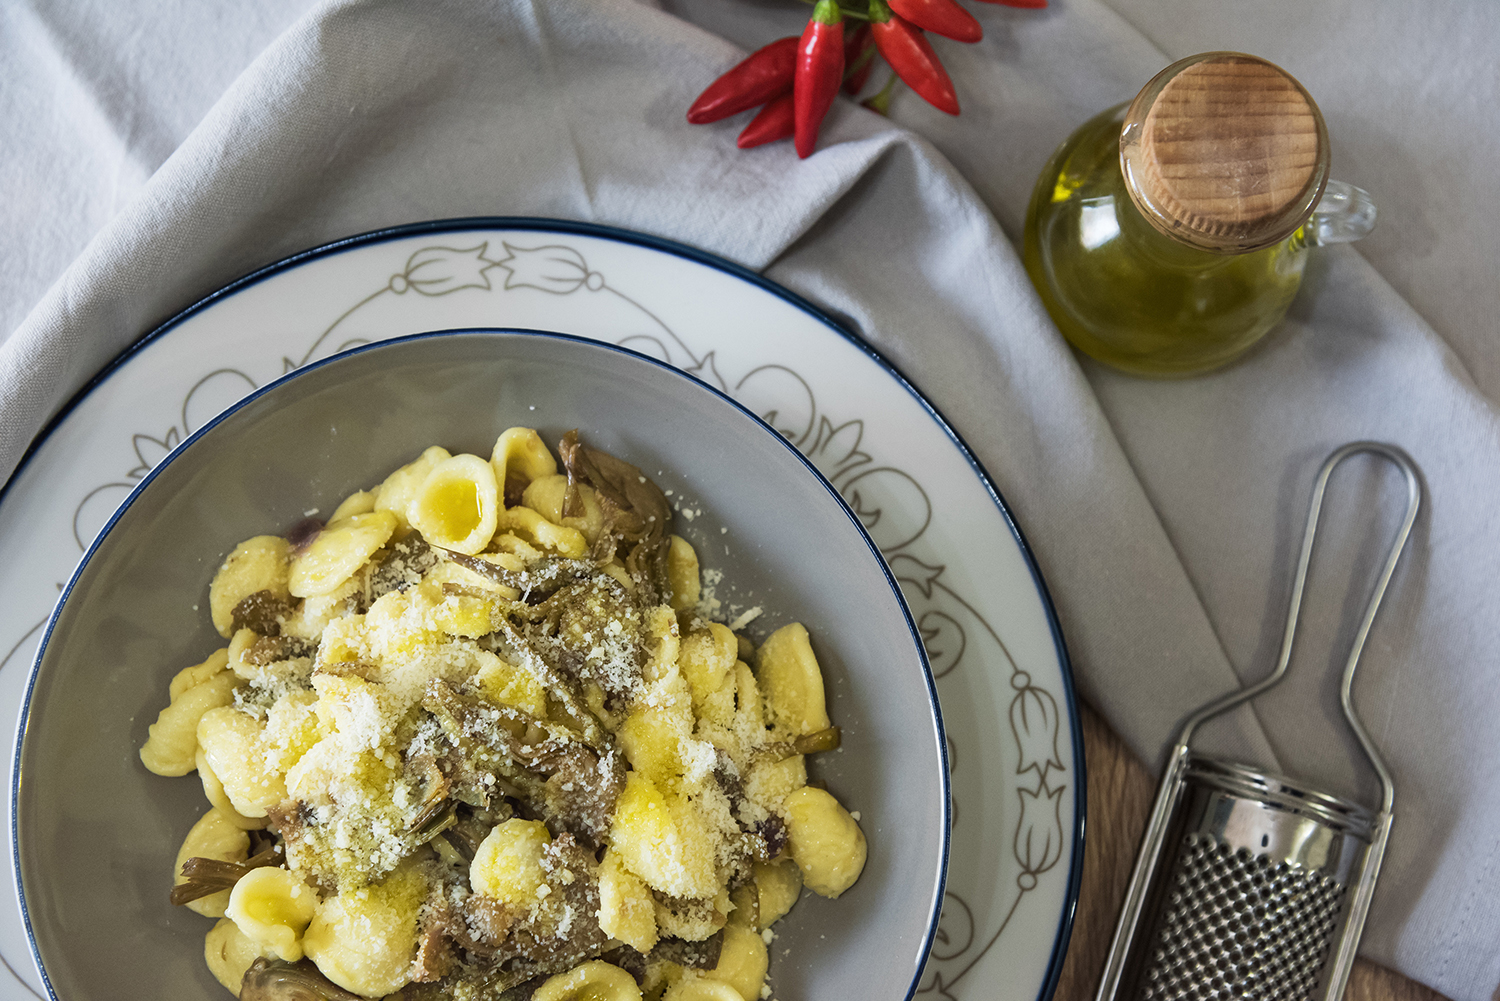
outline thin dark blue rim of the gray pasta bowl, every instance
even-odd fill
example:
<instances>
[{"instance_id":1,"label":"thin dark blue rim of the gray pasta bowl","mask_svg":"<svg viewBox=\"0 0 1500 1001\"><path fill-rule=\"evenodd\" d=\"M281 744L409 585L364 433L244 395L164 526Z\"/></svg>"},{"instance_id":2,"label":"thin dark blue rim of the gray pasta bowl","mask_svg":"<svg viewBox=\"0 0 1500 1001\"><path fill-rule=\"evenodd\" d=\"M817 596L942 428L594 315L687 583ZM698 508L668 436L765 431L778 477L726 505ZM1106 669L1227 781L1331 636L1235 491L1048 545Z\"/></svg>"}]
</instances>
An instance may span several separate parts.
<instances>
[{"instance_id":1,"label":"thin dark blue rim of the gray pasta bowl","mask_svg":"<svg viewBox=\"0 0 1500 1001\"><path fill-rule=\"evenodd\" d=\"M195 306L195 309L196 309L196 306ZM168 324L164 324L164 329L168 327L168 326L171 326L171 324L174 324L174 323L177 323L177 320L178 318L172 318L171 321L168 321ZM46 996L48 996L50 1001L62 1001L62 999L58 998L57 990L52 987L52 980L51 980L51 977L46 972L46 963L42 962L42 953L40 953L40 948L39 948L38 941L36 941L36 932L32 927L32 911L30 911L30 906L27 905L26 879L24 879L22 870L21 870L21 837L20 837L20 833L21 833L21 819L20 819L20 804L21 804L20 803L20 800L21 800L21 759L22 759L22 752L24 752L24 747L26 747L27 734L30 732L33 693L34 693L34 689L36 689L38 675L40 674L40 669L42 669L42 660L46 656L46 651L48 651L48 647L50 647L50 642L51 642L51 638L52 638L52 632L54 632L54 629L57 626L58 617L63 612L63 606L68 603L68 599L72 596L74 588L76 587L76 584L80 582L80 579L82 578L82 575L88 569L90 563L93 561L93 557L96 555L96 552L99 551L99 548L104 545L104 542L108 539L108 536L114 531L116 525L118 524L120 518L123 518L124 512L129 510L135 504L136 500L140 500L140 497L156 480L158 474L160 474L164 470L166 470L166 467L171 462L174 462L177 458L180 458L182 455L184 455L189 447L192 447L194 444L196 444L202 437L206 437L207 434L210 434L220 423L224 423L230 417L238 414L243 408L249 407L250 404L254 404L255 401L261 399L262 396L272 393L273 390L278 390L282 386L286 386L288 383L296 381L302 375L308 375L310 372L320 371L320 369L327 368L330 365L336 365L339 362L345 362L348 359L352 359L352 357L357 357L357 356L362 356L362 354L368 354L368 353L374 353L374 351L381 351L384 348L394 348L394 347L400 347L400 345L406 345L406 344L423 342L423 341L435 341L435 339L442 339L442 338L483 338L483 336L492 336L492 335L520 335L520 336L525 336L525 338L537 338L537 339L552 341L552 342L568 342L568 344L579 345L579 347L582 347L585 350L598 350L598 351L603 351L603 353L614 353L614 354L618 354L618 356L627 356L627 357L630 357L633 360L648 362L651 366L654 366L657 369L669 372L670 375L674 375L676 378L686 380L690 386L694 386L698 389L706 390L714 398L717 398L720 402L728 404L729 407L732 407L734 410L736 410L740 414L748 417L754 426L758 426L760 431L764 431L765 434L768 434L774 441L777 441L782 447L784 447L788 452L790 452L792 456L795 456L795 459L801 464L802 470L806 470L807 473L810 473L813 476L813 479L824 488L824 491L826 491L828 495L832 497L832 500L837 504L838 510L854 525L855 533L858 534L860 540L866 545L866 548L868 549L868 552L873 557L874 563L879 566L880 575L884 576L884 579L886 582L886 587L891 590L891 593L896 597L897 608L900 608L900 611L902 611L902 618L906 623L906 630L910 635L912 645L916 650L916 660L918 660L918 665L921 666L922 681L926 683L927 704L928 704L928 708L932 711L932 719L933 719L933 725L934 725L934 729L936 729L936 738L938 738L938 764L939 764L939 782L938 782L938 785L939 785L939 791L940 791L940 797L942 797L942 804L944 804L944 810L942 810L942 839L940 839L940 845L939 845L938 879L936 879L936 885L934 885L934 893L933 893L933 897L932 897L932 903L928 906L927 930L922 933L922 938L921 938L921 942L920 942L920 948L918 948L918 953L916 953L918 954L916 969L912 974L910 983L908 984L908 989L906 989L906 993L904 993L904 1001L910 1001L916 995L916 989L921 986L922 972L926 971L927 956L928 956L928 953L932 950L933 939L938 935L939 921L942 920L942 905L944 905L945 890L946 890L946 884L948 884L948 863L950 863L950 849L951 849L951 842L952 842L952 788L951 788L950 761L948 761L948 737L946 737L946 728L944 726L942 705L940 705L940 702L938 699L938 683L936 683L936 678L933 678L932 663L927 659L927 645L922 642L921 630L916 627L916 621L912 618L912 611L910 611L909 605L906 603L906 596L902 593L900 584L896 581L896 575L891 572L891 567L885 561L885 557L880 554L879 546L876 546L874 540L870 537L870 533L866 530L864 524L860 521L860 516L854 512L852 507L849 507L849 503L843 498L843 495L838 492L838 489L832 483L828 482L828 477L825 477L818 470L818 467L814 467L813 462L796 449L796 446L794 446L790 441L788 441L784 435L782 435L771 425L768 425L765 420L762 420L759 414L753 413L750 408L747 408L744 404L738 402L736 399L734 399L728 393L724 393L724 392L718 390L717 387L711 386L710 383L698 378L692 372L686 372L686 371L676 368L675 365L670 365L669 362L663 362L660 359L651 357L650 354L644 354L640 351L634 351L632 348L627 348L627 347L622 347L622 345L618 345L618 344L609 344L609 342L604 342L604 341L597 341L597 339L592 339L592 338L585 338L585 336L572 335L572 333L561 333L561 332L556 332L556 330L542 330L542 329L536 329L536 327L450 327L450 329L438 329L438 330L423 330L423 332L418 332L418 333L408 333L408 335L400 335L400 336L394 336L394 338L384 338L384 339L380 339L380 341L372 341L372 342L368 342L368 344L356 345L356 347L348 348L345 351L339 351L336 354L330 354L326 359L320 359L316 362L309 362L308 365L303 365L303 366L298 366L296 369L291 369L290 372L282 374L280 377L272 380L270 383L266 383L264 386L261 386L261 387L252 390L250 393L244 395L243 398L237 399L234 404L231 404L230 407L226 407L224 411L220 411L219 414L216 414L213 419L204 422L204 425L201 428L198 428L190 435L188 435L186 438L183 438L183 441L180 444L177 444L171 452L168 452L154 467L152 467L146 473L146 476L141 477L141 482L136 483L135 488L130 489L130 492L126 495L126 498L110 515L108 521L105 521L104 527L93 537L93 540L88 543L88 549L80 558L78 566L74 567L72 575L68 578L68 584L63 587L63 590L57 596L57 603L52 606L52 611L46 617L46 626L42 630L40 641L38 642L38 647L36 647L36 654L32 657L32 665L30 665L30 668L27 671L26 687L24 687L24 690L21 693L21 710L20 710L18 725L16 725L15 753L14 753L12 767L10 767L10 801L9 801L9 806L10 806L10 876L14 879L14 882L15 882L16 897L18 897L20 909L21 909L21 926L22 926L22 930L26 932L26 942L27 942L27 947L28 947L28 950L32 953L32 962L36 965L36 971L38 971L38 974L42 978L42 987L46 990ZM123 359L123 354L122 354L122 359ZM112 368L114 366L111 365L105 372L100 372L100 377L104 377L105 374L108 374L108 371L112 371ZM898 377L898 378L902 378L902 377ZM904 378L902 378L902 383L903 383L903 386L909 386L904 381ZM93 383L90 383L88 386L86 386L84 390L81 390L81 392L87 392L88 389L92 389L92 386L93 386ZM916 398L922 399L921 395L916 395ZM70 407L72 407L72 404L69 404L69 408ZM60 413L58 419L62 416L63 414ZM946 428L946 422L942 422L942 423ZM46 431L50 431L50 428ZM44 434L39 435L38 440L40 440L42 437L45 437L46 431L44 431ZM964 453L969 455L968 453L968 447L964 447ZM22 462L24 462L26 458L30 458L30 455L24 456ZM8 486L9 486L9 483L8 483ZM988 480L987 479L986 479L986 486L988 486ZM4 494L4 491L0 489L0 497L3 497L3 494ZM998 497L998 494L996 494L996 497ZM1005 510L1004 506L1002 506L1002 510L1006 515L1006 521L1011 521L1010 519L1010 512ZM1014 528L1014 522L1011 522L1011 525ZM1018 537L1018 534L1017 534L1017 537ZM1029 552L1028 552L1028 555L1029 555ZM1048 611L1050 611L1050 608L1048 608ZM1076 899L1076 894L1072 894L1072 899ZM1070 906L1066 909L1068 909L1068 915L1071 917L1071 911L1072 911L1071 902L1070 902Z\"/></svg>"}]
</instances>

